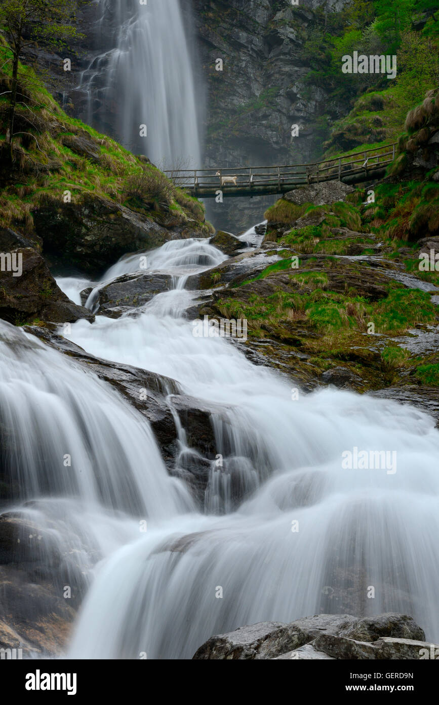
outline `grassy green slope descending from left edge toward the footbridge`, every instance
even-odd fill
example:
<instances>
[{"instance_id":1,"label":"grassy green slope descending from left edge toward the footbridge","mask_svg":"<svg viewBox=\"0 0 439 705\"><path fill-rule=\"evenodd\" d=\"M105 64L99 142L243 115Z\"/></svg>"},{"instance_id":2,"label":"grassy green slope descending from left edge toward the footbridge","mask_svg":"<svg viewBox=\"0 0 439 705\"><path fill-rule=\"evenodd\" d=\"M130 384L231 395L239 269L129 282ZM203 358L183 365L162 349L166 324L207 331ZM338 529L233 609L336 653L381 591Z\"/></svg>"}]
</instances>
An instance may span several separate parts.
<instances>
[{"instance_id":1,"label":"grassy green slope descending from left edge toward the footbridge","mask_svg":"<svg viewBox=\"0 0 439 705\"><path fill-rule=\"evenodd\" d=\"M0 87L11 81L10 50L0 35ZM0 91L2 92L2 91ZM44 203L87 194L113 200L151 219L186 224L207 235L203 204L176 188L148 159L71 118L31 68L19 64L12 167L0 173L0 226L32 233L32 213ZM0 96L0 157L6 153L8 95ZM3 161L7 164L7 160Z\"/></svg>"}]
</instances>

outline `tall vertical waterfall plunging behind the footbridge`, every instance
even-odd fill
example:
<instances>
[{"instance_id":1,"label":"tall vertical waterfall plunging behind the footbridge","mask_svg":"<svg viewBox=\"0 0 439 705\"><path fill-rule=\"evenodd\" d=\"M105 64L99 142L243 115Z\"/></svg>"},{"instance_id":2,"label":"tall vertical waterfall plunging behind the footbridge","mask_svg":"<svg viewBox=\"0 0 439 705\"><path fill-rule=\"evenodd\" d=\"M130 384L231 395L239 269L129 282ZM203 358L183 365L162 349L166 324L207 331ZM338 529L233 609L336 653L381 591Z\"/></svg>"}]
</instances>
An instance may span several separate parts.
<instances>
[{"instance_id":1,"label":"tall vertical waterfall plunging behind the footbridge","mask_svg":"<svg viewBox=\"0 0 439 705\"><path fill-rule=\"evenodd\" d=\"M82 77L81 87L89 92L89 123L100 128L94 100L105 74L103 97L112 106L116 135L127 149L146 154L162 168L199 166L201 99L180 1L98 1L98 30L107 37L108 27L116 27L116 48L94 59ZM146 137L139 135L140 125L146 125Z\"/></svg>"}]
</instances>

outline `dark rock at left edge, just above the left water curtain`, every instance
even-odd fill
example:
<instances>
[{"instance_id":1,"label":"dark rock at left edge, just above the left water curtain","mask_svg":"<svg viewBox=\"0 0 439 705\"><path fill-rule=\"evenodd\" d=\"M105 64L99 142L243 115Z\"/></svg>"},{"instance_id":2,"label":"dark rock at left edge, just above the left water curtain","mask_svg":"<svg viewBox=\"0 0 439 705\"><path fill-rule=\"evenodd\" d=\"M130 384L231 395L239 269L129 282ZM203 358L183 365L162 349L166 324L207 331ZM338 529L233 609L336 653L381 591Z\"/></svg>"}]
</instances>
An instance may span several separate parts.
<instances>
[{"instance_id":1,"label":"dark rock at left edge, just above the left water curtain","mask_svg":"<svg viewBox=\"0 0 439 705\"><path fill-rule=\"evenodd\" d=\"M15 325L40 320L65 323L85 318L94 320L93 314L77 306L61 291L44 262L32 247L20 247L9 253L11 271L0 271L0 317ZM22 262L20 276L18 264Z\"/></svg>"}]
</instances>

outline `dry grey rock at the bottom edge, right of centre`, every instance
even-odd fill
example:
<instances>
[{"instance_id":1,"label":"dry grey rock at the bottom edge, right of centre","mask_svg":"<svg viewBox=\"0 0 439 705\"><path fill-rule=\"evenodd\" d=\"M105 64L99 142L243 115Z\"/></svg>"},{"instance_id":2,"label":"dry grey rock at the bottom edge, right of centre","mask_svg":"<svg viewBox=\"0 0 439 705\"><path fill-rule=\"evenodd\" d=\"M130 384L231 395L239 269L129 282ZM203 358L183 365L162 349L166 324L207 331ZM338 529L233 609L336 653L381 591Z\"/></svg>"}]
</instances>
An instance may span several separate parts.
<instances>
[{"instance_id":1,"label":"dry grey rock at the bottom edge, right of centre","mask_svg":"<svg viewBox=\"0 0 439 705\"><path fill-rule=\"evenodd\" d=\"M404 634L404 637L402 637ZM376 617L359 619L351 615L314 615L296 620L291 624L263 622L240 627L234 632L217 635L200 646L194 659L274 659L278 656L293 658L291 652L305 644L312 644L317 652L324 652L333 658L376 658L374 642L376 636L403 640L425 639L423 630L407 615L387 613ZM357 654L364 656L333 656L332 648L338 654L348 653L347 642L357 642ZM338 644L338 651L336 644ZM332 645L332 646L331 646ZM351 646L351 648L353 648ZM384 649L381 646L381 649ZM390 651L390 642L386 646ZM402 646L395 646L402 651ZM345 649L345 651L343 651ZM288 656L290 654L290 656ZM314 658L311 649L305 651L306 658ZM316 656L322 658L322 656ZM386 658L383 656L383 658ZM388 658L388 656L387 656Z\"/></svg>"}]
</instances>

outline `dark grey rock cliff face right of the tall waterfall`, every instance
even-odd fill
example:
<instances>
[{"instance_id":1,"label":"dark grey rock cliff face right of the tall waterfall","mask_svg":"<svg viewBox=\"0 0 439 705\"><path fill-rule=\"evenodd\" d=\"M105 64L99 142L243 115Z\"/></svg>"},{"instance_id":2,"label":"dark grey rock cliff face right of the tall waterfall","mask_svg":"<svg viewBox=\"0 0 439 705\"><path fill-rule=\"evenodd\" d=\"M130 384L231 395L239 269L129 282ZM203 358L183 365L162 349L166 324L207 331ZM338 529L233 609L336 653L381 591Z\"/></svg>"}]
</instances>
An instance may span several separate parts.
<instances>
[{"instance_id":1,"label":"dark grey rock cliff face right of the tall waterfall","mask_svg":"<svg viewBox=\"0 0 439 705\"><path fill-rule=\"evenodd\" d=\"M304 44L314 10L338 11L343 4L194 0L208 83L206 166L306 163L319 157L322 116L336 119L343 106L307 83ZM298 136L292 136L292 125L298 125ZM217 226L236 230L261 219L272 202L272 197L212 201L208 213Z\"/></svg>"}]
</instances>

